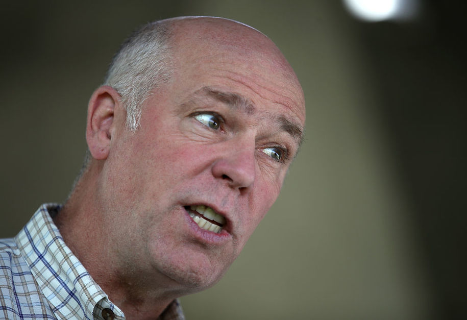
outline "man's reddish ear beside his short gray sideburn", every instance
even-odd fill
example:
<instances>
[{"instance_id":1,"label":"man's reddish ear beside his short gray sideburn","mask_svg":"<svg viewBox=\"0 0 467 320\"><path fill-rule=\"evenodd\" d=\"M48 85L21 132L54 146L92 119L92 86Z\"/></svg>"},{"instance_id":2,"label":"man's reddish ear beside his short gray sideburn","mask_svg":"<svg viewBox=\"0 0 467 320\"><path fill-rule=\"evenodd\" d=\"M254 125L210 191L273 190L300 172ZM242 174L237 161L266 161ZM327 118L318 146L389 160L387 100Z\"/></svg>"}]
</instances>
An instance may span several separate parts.
<instances>
[{"instance_id":1,"label":"man's reddish ear beside his short gray sideburn","mask_svg":"<svg viewBox=\"0 0 467 320\"><path fill-rule=\"evenodd\" d=\"M96 160L109 155L110 141L115 128L114 112L120 95L110 86L101 86L91 95L86 123L86 141L89 152Z\"/></svg>"}]
</instances>

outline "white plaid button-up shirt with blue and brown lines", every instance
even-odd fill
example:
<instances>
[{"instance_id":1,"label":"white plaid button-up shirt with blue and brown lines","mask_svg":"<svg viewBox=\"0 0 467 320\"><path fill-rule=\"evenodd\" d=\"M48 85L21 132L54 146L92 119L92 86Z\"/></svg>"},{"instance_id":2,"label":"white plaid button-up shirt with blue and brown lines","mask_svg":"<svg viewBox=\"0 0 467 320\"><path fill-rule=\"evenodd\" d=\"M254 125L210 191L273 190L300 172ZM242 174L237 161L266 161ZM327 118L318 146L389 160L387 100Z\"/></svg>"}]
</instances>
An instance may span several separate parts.
<instances>
[{"instance_id":1,"label":"white plaid button-up shirt with blue and brown lines","mask_svg":"<svg viewBox=\"0 0 467 320\"><path fill-rule=\"evenodd\" d=\"M66 246L42 205L15 238L0 239L0 318L125 319ZM184 319L177 300L160 320Z\"/></svg>"}]
</instances>

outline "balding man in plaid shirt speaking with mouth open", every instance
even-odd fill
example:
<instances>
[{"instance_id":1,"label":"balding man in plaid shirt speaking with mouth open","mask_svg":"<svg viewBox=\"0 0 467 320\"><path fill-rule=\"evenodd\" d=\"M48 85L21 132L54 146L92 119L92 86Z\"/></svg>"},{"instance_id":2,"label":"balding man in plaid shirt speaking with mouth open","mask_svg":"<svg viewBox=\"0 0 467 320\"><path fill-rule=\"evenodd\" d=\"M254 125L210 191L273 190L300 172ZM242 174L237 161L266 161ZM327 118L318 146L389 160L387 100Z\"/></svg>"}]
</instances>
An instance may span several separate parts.
<instances>
[{"instance_id":1,"label":"balding man in plaid shirt speaking with mouth open","mask_svg":"<svg viewBox=\"0 0 467 320\"><path fill-rule=\"evenodd\" d=\"M144 26L91 96L69 199L1 242L1 312L183 318L177 298L216 283L276 200L304 121L297 77L255 29Z\"/></svg>"}]
</instances>

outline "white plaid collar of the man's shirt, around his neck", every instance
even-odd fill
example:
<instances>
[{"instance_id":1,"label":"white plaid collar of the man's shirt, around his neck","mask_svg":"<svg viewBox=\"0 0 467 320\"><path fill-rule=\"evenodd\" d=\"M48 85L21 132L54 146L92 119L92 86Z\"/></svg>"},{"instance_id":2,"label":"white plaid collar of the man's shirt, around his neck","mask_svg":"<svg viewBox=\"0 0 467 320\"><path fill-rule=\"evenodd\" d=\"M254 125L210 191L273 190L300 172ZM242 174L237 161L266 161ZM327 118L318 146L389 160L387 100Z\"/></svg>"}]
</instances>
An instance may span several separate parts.
<instances>
[{"instance_id":1,"label":"white plaid collar of the man's shirt, around his neck","mask_svg":"<svg viewBox=\"0 0 467 320\"><path fill-rule=\"evenodd\" d=\"M110 302L107 294L91 278L87 270L63 241L49 212L57 212L58 204L44 204L16 236L21 255L58 318L92 319L95 310L108 308L115 319L123 312ZM94 312L94 316L93 316ZM160 319L184 319L177 300Z\"/></svg>"}]
</instances>

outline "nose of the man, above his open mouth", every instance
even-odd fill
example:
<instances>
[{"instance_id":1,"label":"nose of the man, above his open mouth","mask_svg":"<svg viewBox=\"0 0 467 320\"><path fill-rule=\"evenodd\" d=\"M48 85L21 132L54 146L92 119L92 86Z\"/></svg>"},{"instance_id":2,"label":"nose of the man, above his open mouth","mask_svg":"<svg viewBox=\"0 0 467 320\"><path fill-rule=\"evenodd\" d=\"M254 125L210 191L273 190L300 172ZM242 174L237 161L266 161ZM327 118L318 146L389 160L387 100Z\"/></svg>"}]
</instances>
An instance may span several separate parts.
<instances>
[{"instance_id":1,"label":"nose of the man, above his open mouth","mask_svg":"<svg viewBox=\"0 0 467 320\"><path fill-rule=\"evenodd\" d=\"M255 181L254 143L230 141L212 165L212 175L235 189L245 190Z\"/></svg>"}]
</instances>

